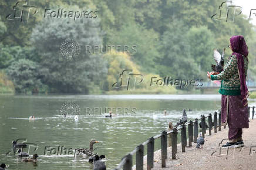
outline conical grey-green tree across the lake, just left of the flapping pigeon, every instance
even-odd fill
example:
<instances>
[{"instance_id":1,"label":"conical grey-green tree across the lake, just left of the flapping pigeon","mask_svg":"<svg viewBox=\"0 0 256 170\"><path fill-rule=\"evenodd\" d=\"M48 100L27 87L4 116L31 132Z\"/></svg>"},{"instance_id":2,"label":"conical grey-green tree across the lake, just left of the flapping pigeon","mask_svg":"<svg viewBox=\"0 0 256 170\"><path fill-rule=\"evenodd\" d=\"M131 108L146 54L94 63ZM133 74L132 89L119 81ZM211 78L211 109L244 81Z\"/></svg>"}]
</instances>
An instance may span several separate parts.
<instances>
[{"instance_id":1,"label":"conical grey-green tree across the lake, just left of the flapping pigeon","mask_svg":"<svg viewBox=\"0 0 256 170\"><path fill-rule=\"evenodd\" d=\"M171 76L174 79L194 79L200 76L200 71L193 57L186 34L187 28L182 22L176 21L161 37L158 57L159 74L161 77Z\"/></svg>"}]
</instances>

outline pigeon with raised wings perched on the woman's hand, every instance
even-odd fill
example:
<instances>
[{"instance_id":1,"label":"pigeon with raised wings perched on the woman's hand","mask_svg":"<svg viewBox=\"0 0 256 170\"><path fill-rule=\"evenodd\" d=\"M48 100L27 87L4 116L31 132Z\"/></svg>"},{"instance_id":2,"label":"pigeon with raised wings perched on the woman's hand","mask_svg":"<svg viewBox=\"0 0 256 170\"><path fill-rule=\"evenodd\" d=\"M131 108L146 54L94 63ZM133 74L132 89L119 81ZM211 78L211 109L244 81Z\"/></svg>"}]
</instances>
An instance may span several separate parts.
<instances>
[{"instance_id":1,"label":"pigeon with raised wings perched on the woman's hand","mask_svg":"<svg viewBox=\"0 0 256 170\"><path fill-rule=\"evenodd\" d=\"M217 49L213 50L213 58L216 62L216 65L211 64L211 69L213 72L222 72L224 66L224 54L225 54L225 47L223 48L223 53L220 55Z\"/></svg>"}]
</instances>

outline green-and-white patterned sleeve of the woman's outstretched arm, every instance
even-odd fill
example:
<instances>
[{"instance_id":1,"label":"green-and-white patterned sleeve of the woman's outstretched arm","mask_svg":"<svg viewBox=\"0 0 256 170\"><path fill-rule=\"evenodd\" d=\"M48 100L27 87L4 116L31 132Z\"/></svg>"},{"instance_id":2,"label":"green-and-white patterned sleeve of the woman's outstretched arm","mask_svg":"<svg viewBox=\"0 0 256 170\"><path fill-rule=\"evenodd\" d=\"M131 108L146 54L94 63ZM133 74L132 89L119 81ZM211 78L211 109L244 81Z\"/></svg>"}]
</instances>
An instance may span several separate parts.
<instances>
[{"instance_id":1,"label":"green-and-white patterned sleeve of the woman's outstretched arm","mask_svg":"<svg viewBox=\"0 0 256 170\"><path fill-rule=\"evenodd\" d=\"M211 75L211 80L227 80L237 72L237 57L234 55L224 66L223 72L218 75Z\"/></svg>"}]
</instances>

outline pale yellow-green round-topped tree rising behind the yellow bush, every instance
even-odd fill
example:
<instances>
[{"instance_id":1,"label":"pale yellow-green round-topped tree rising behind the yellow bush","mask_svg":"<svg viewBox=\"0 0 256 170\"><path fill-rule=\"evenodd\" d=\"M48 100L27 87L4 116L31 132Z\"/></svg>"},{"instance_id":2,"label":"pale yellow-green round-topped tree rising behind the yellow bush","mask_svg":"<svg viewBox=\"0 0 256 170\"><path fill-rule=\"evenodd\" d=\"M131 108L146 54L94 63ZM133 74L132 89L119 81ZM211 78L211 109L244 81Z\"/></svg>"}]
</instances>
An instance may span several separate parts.
<instances>
[{"instance_id":1,"label":"pale yellow-green round-topped tree rising behind the yellow bush","mask_svg":"<svg viewBox=\"0 0 256 170\"><path fill-rule=\"evenodd\" d=\"M127 23L122 26L120 32L112 36L110 42L114 45L129 46L132 60L142 66L143 72L156 72L154 59L159 56L159 35L153 29L147 30L136 23ZM136 50L131 50L132 46L135 46Z\"/></svg>"}]
</instances>

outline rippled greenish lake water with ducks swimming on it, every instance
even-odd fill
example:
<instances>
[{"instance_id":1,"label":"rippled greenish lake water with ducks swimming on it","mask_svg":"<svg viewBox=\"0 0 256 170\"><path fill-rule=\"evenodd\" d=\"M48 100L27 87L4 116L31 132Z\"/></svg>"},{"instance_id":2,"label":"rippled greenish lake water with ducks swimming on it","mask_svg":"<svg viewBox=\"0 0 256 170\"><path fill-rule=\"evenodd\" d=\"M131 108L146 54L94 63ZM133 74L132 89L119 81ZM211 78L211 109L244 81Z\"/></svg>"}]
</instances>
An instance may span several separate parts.
<instances>
[{"instance_id":1,"label":"rippled greenish lake water with ducks swimming on it","mask_svg":"<svg viewBox=\"0 0 256 170\"><path fill-rule=\"evenodd\" d=\"M183 108L188 118L199 118L220 109L220 95L100 95L100 96L0 96L0 163L8 169L93 169L85 158L74 158L72 154L60 155L62 148L89 148L89 141L99 143L93 147L98 154L106 155L107 169L114 169L124 155L153 135L167 129L169 121L176 122ZM63 103L71 101L80 107L78 121L74 115L63 117L59 110ZM252 103L252 102L251 102ZM117 115L105 118L97 111L119 108ZM86 111L87 108L87 111ZM89 115L89 109L94 115ZM132 112L133 108L133 112ZM124 114L123 114L124 110ZM167 115L163 111L167 110ZM95 112L97 111L97 112ZM107 112L107 111L106 111ZM134 114L135 113L135 114ZM29 121L31 115L35 120ZM26 138L38 146L34 152L38 162L22 162L11 151L11 142ZM21 140L19 142L22 142ZM51 148L59 147L58 155ZM32 149L33 148L33 149ZM50 149L49 149L50 148ZM160 149L160 140L155 150ZM28 152L28 148L24 148ZM46 152L45 152L46 151ZM145 153L146 154L146 153Z\"/></svg>"}]
</instances>

